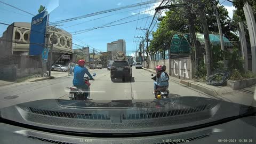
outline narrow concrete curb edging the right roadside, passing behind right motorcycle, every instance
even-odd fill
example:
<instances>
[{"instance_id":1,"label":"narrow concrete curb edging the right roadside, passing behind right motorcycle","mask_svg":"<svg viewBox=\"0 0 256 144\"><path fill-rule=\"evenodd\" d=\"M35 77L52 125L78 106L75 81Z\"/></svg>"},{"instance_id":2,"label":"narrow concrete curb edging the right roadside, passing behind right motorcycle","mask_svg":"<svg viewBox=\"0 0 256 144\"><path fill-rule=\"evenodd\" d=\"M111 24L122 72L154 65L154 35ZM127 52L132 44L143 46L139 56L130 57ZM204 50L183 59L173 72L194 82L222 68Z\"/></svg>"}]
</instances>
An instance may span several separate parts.
<instances>
[{"instance_id":1,"label":"narrow concrete curb edging the right roadside, passing behind right motorcycle","mask_svg":"<svg viewBox=\"0 0 256 144\"><path fill-rule=\"evenodd\" d=\"M151 71L151 70L146 69L146 68L143 68L143 69L145 69L145 70L147 70L151 73L156 74L155 71ZM215 91L213 89L210 89L209 87L205 87L203 85L200 85L200 84L196 84L196 83L193 83L193 82L185 81L183 79L178 79L178 78L174 78L174 77L170 77L170 80L175 82L175 83L180 83L180 84L186 85L188 87L192 87L193 89L199 90L201 92L204 92L204 93L209 94L209 95L214 96L214 97L219 96L217 91Z\"/></svg>"}]
</instances>

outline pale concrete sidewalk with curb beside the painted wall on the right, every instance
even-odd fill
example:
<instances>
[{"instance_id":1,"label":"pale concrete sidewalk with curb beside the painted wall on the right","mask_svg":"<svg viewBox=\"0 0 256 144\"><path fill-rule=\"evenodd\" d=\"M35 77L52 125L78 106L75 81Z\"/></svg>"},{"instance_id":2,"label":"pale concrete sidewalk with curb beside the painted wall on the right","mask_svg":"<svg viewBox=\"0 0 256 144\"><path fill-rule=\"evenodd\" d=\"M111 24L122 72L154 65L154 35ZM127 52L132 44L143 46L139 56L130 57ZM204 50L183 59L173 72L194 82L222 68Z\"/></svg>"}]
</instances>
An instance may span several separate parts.
<instances>
[{"instance_id":1,"label":"pale concrete sidewalk with curb beside the painted wall on the right","mask_svg":"<svg viewBox=\"0 0 256 144\"><path fill-rule=\"evenodd\" d=\"M147 69L147 68L143 68L143 69L156 74L155 70L153 69ZM256 85L253 85L241 90L233 90L231 89L231 87L228 87L228 86L212 86L212 85L207 85L206 83L203 83L203 82L184 80L184 79L179 79L172 76L170 76L170 80L175 83L180 83L180 84L183 84L184 86L192 87L193 89L209 94L216 99L242 103L244 105L251 105L254 91L255 91L255 86L256 86Z\"/></svg>"}]
</instances>

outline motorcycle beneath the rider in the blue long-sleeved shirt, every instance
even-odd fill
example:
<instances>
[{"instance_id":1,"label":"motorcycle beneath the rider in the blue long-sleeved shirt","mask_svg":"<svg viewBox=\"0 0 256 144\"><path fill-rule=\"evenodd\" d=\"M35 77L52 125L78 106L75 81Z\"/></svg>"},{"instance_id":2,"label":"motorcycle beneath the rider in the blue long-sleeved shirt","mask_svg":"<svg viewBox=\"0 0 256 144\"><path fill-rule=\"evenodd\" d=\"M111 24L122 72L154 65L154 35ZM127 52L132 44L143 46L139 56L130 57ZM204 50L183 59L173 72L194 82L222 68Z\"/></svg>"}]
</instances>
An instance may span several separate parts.
<instances>
[{"instance_id":1,"label":"motorcycle beneath the rider in the blue long-sleeved shirt","mask_svg":"<svg viewBox=\"0 0 256 144\"><path fill-rule=\"evenodd\" d=\"M96 76L95 73L93 73L93 76ZM68 94L68 97L70 100L89 100L90 99L90 86L91 83L89 82L90 78L89 76L84 77L84 82L86 84L86 89L82 89L81 87L77 86L70 86L67 87L67 89L70 89L70 92Z\"/></svg>"}]
</instances>

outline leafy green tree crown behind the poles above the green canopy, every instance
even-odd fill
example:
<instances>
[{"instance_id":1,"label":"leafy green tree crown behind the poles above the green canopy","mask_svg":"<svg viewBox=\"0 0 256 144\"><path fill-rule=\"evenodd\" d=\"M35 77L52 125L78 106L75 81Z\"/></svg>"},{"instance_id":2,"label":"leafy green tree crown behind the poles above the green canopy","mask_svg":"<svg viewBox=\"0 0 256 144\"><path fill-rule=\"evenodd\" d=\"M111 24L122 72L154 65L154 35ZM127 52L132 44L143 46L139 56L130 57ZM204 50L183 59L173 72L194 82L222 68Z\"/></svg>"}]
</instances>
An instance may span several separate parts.
<instances>
[{"instance_id":1,"label":"leafy green tree crown behind the poles above the green canopy","mask_svg":"<svg viewBox=\"0 0 256 144\"><path fill-rule=\"evenodd\" d=\"M176 2L187 3L187 1L181 0ZM209 31L210 33L219 33L217 20L213 16L214 9L212 7L212 3L207 2L208 1L204 3L206 4L205 15ZM217 6L217 9L219 12L223 36L227 37L230 41L238 41L238 36L234 34L236 25L234 25L233 20L229 18L227 9L224 6ZM196 33L203 33L196 4L193 5L193 10L191 10L191 12L194 13ZM156 52L159 49L169 49L172 36L176 33L189 33L188 20L186 18L188 13L186 7L173 7L169 9L169 11L165 12L165 14L166 16L158 19L160 22L157 24L157 30L152 33L153 39L149 45L150 52Z\"/></svg>"}]
</instances>

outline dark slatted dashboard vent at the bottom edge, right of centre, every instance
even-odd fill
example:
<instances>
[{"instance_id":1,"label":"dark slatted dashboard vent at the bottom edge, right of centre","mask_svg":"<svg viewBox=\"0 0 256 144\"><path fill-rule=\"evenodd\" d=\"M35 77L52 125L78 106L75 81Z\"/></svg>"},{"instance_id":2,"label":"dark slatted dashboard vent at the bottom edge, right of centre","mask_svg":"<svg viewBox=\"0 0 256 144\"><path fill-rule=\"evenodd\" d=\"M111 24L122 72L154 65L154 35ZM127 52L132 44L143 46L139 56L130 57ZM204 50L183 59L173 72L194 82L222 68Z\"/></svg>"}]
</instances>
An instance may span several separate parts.
<instances>
[{"instance_id":1,"label":"dark slatted dashboard vent at the bottom edge, right of centre","mask_svg":"<svg viewBox=\"0 0 256 144\"><path fill-rule=\"evenodd\" d=\"M186 139L163 139L163 142L154 143L154 144L177 144L177 143L187 143L194 140L204 139L210 137L212 133L199 135L196 137L186 138Z\"/></svg>"}]
</instances>

